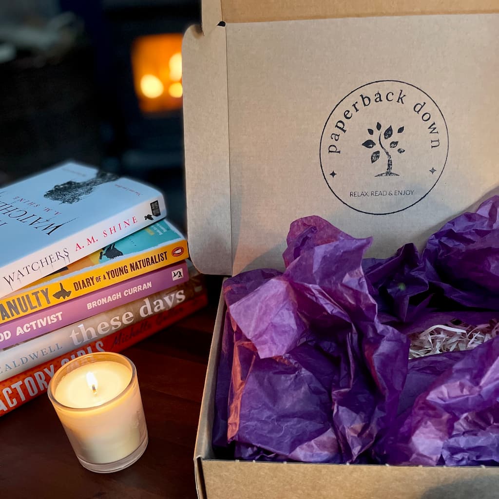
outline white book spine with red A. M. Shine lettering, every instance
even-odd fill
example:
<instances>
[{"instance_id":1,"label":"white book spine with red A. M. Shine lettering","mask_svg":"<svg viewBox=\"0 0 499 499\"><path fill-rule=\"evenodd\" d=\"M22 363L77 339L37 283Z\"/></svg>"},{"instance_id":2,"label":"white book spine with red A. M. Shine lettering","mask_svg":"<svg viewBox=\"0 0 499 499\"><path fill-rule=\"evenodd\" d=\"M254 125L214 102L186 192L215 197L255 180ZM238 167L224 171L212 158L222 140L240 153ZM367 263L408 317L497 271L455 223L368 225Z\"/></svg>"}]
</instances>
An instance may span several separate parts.
<instances>
[{"instance_id":1,"label":"white book spine with red A. M. Shine lettering","mask_svg":"<svg viewBox=\"0 0 499 499\"><path fill-rule=\"evenodd\" d=\"M51 272L57 271L61 266L58 263L60 255L63 255L64 261L68 265L99 248L115 243L129 234L151 225L154 220L147 218L147 216L151 215L151 203L155 201L159 202L160 207L160 215L156 220L160 220L166 216L166 209L163 196L158 193L154 198L145 199L127 210L107 217L71 236L60 239L1 267L0 296L12 293ZM59 257L54 257L55 261L52 262L51 256L53 257L57 252ZM46 264L43 265L43 262Z\"/></svg>"}]
</instances>

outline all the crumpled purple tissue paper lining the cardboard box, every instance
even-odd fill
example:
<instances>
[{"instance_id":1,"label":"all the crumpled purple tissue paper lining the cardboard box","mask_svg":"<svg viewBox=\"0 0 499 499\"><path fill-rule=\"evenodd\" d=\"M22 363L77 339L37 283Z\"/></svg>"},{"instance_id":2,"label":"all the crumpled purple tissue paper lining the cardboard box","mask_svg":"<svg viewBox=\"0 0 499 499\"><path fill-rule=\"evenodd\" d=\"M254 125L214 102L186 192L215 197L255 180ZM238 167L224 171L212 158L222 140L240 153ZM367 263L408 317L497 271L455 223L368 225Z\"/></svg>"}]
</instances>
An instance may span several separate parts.
<instances>
[{"instance_id":1,"label":"all the crumpled purple tissue paper lining the cardboard box","mask_svg":"<svg viewBox=\"0 0 499 499\"><path fill-rule=\"evenodd\" d=\"M226 280L214 447L225 457L499 465L499 337L408 360L409 335L499 317L499 197L422 254L363 259L320 217L293 222L284 272Z\"/></svg>"}]
</instances>

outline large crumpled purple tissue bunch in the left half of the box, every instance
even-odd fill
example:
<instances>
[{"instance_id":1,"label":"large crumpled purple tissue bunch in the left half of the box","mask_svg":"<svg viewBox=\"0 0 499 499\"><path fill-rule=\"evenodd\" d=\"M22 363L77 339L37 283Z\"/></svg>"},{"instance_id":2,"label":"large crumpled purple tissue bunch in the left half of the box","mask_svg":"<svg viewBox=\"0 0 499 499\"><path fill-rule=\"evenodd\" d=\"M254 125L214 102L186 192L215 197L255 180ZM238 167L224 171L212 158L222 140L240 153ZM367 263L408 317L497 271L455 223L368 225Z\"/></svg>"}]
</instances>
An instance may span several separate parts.
<instances>
[{"instance_id":1,"label":"large crumpled purple tissue bunch in the left half of the box","mask_svg":"<svg viewBox=\"0 0 499 499\"><path fill-rule=\"evenodd\" d=\"M217 400L228 397L228 441L236 458L353 462L396 416L408 340L377 318L362 270L370 239L308 217L287 243L283 273L224 284Z\"/></svg>"}]
</instances>

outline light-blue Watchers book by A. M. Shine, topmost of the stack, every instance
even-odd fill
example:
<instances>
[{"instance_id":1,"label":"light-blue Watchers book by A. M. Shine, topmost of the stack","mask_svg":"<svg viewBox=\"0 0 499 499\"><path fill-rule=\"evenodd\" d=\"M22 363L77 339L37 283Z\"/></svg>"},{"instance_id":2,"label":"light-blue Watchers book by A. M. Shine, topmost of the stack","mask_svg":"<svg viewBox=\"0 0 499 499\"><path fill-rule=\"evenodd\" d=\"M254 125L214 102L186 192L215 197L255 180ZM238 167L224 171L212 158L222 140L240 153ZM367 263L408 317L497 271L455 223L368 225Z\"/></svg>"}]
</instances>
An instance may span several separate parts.
<instances>
[{"instance_id":1,"label":"light-blue Watchers book by A. M. Shine, topmost of the stack","mask_svg":"<svg viewBox=\"0 0 499 499\"><path fill-rule=\"evenodd\" d=\"M0 296L165 216L159 190L74 162L0 188Z\"/></svg>"}]
</instances>

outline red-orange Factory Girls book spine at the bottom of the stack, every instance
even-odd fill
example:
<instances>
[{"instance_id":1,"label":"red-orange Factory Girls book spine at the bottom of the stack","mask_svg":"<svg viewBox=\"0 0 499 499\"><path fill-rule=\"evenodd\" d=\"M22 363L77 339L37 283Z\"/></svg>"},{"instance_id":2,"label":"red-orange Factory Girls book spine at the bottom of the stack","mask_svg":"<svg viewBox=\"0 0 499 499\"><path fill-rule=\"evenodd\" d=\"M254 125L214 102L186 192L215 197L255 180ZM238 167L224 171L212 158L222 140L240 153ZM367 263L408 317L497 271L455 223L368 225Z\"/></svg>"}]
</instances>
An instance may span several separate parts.
<instances>
[{"instance_id":1,"label":"red-orange Factory Girls book spine at the bottom of the stack","mask_svg":"<svg viewBox=\"0 0 499 499\"><path fill-rule=\"evenodd\" d=\"M71 359L95 352L121 352L135 343L151 336L165 327L187 317L208 303L203 293L178 307L158 315L147 317L136 324L115 331L108 336L93 341L82 348L74 348L64 355L43 362L0 382L0 416L25 404L47 391L48 383L55 372Z\"/></svg>"}]
</instances>

